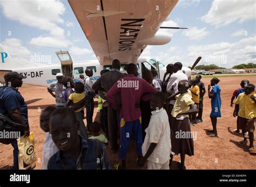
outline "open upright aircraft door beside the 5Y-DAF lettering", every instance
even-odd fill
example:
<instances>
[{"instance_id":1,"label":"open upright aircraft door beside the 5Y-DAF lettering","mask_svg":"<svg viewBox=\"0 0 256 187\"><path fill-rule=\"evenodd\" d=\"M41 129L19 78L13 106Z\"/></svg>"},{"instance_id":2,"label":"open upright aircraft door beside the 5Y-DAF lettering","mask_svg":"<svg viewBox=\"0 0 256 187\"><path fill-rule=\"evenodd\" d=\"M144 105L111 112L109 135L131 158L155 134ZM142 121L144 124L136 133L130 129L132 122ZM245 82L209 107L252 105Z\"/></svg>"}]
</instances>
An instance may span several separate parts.
<instances>
[{"instance_id":1,"label":"open upright aircraft door beside the 5Y-DAF lettering","mask_svg":"<svg viewBox=\"0 0 256 187\"><path fill-rule=\"evenodd\" d=\"M60 63L62 64L62 73L64 76L73 78L73 61L68 51L56 52Z\"/></svg>"}]
</instances>

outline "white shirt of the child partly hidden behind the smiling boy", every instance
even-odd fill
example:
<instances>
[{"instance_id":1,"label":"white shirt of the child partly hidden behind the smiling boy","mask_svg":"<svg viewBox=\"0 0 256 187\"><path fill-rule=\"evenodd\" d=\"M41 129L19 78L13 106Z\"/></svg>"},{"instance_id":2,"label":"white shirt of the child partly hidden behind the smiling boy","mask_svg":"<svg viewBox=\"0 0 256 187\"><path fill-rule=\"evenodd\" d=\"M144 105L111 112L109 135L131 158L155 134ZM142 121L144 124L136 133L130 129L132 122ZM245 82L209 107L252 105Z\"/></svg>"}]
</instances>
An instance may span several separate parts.
<instances>
[{"instance_id":1,"label":"white shirt of the child partly hidden behind the smiling boy","mask_svg":"<svg viewBox=\"0 0 256 187\"><path fill-rule=\"evenodd\" d=\"M43 160L42 160L42 169L47 169L48 161L51 156L57 153L59 149L53 143L50 132L45 133L45 142L43 146Z\"/></svg>"}]
</instances>

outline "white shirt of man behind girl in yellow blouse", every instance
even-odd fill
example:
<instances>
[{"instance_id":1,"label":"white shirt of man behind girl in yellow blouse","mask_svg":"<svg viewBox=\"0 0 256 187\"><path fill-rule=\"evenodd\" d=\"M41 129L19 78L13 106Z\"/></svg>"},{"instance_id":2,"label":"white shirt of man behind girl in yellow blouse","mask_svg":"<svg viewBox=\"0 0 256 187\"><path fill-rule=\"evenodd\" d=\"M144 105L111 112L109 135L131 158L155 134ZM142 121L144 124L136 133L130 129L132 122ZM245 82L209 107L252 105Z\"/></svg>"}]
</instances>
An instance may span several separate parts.
<instances>
[{"instance_id":1,"label":"white shirt of man behind girl in yellow blouse","mask_svg":"<svg viewBox=\"0 0 256 187\"><path fill-rule=\"evenodd\" d=\"M166 91L169 92L170 95L178 92L178 84L181 80L187 80L187 76L186 76L186 74L183 73L183 71L178 70L176 73L172 74L172 76L167 84ZM170 104L174 105L175 100L171 100Z\"/></svg>"}]
</instances>

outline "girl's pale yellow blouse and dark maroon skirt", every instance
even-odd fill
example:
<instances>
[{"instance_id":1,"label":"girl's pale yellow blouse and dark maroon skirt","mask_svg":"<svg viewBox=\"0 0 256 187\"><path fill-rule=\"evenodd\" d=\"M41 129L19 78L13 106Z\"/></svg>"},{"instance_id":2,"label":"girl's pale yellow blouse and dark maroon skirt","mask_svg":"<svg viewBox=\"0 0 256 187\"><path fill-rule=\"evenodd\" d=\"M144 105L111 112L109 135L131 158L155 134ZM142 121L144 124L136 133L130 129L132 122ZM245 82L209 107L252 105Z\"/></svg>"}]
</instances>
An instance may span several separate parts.
<instances>
[{"instance_id":1,"label":"girl's pale yellow blouse and dark maroon skirt","mask_svg":"<svg viewBox=\"0 0 256 187\"><path fill-rule=\"evenodd\" d=\"M190 120L188 115L178 116L180 112L190 110L190 105L194 104L190 93L186 92L176 96L176 102L173 106L172 116L174 117L171 129L172 152L176 154L194 155L193 137L183 138L182 134L191 134ZM183 118L181 118L183 117ZM190 132L190 133L187 133ZM182 133L182 134L180 134Z\"/></svg>"}]
</instances>

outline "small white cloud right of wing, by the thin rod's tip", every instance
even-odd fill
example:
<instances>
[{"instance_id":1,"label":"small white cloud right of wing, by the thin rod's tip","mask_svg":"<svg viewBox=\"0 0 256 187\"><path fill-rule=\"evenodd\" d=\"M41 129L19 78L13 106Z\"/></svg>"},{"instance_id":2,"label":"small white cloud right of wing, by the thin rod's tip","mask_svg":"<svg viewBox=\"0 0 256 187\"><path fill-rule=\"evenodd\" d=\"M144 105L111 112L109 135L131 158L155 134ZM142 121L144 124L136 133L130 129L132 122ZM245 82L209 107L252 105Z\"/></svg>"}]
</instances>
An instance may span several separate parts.
<instances>
[{"instance_id":1,"label":"small white cloud right of wing, by the thin rod's tip","mask_svg":"<svg viewBox=\"0 0 256 187\"><path fill-rule=\"evenodd\" d=\"M189 28L188 30L183 31L183 35L188 37L191 40L200 40L206 35L210 34L210 32L206 31L206 28L197 28L197 27L192 27Z\"/></svg>"}]
</instances>

